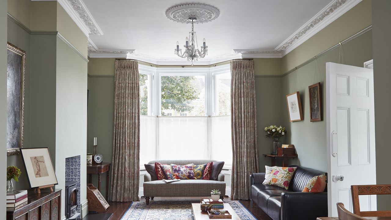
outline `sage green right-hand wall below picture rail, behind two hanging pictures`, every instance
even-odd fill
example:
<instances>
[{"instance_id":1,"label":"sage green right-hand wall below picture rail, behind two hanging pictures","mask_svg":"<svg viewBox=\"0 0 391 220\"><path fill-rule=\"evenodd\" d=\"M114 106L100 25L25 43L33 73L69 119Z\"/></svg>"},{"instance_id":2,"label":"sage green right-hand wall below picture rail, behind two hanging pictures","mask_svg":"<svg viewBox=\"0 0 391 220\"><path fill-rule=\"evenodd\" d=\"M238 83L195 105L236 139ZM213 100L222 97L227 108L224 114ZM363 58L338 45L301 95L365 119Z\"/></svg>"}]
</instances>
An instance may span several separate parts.
<instances>
[{"instance_id":1,"label":"sage green right-hand wall below picture rail, behind two hanging pictures","mask_svg":"<svg viewBox=\"0 0 391 220\"><path fill-rule=\"evenodd\" d=\"M330 32L329 34L332 33ZM372 31L368 31L345 43L343 45L343 54L344 64L363 67L364 62L372 59ZM326 109L325 107L323 108L323 121L310 122L308 86L321 82L322 105L326 106L326 62L338 63L338 58L339 48L317 58L320 79L317 73L314 73L315 61L282 78L282 117L283 124L288 130L286 142L294 144L298 153L298 159L289 160L289 164L299 164L301 166L327 171ZM300 92L304 120L289 122L285 95L296 91Z\"/></svg>"}]
</instances>

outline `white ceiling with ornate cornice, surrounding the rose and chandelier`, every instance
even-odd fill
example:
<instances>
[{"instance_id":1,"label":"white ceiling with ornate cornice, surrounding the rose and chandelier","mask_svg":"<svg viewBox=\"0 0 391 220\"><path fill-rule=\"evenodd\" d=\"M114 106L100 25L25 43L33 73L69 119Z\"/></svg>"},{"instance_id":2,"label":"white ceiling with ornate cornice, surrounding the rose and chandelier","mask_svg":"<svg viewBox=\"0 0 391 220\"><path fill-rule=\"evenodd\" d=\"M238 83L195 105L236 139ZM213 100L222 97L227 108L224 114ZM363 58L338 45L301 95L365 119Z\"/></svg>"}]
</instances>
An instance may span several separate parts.
<instances>
[{"instance_id":1,"label":"white ceiling with ornate cornice, surrounding the rose and chandelier","mask_svg":"<svg viewBox=\"0 0 391 220\"><path fill-rule=\"evenodd\" d=\"M282 57L361 0L57 1L89 37L90 57L128 55L178 64L183 59L174 55L176 41L185 43L191 25L165 16L174 5L202 3L220 10L216 20L194 25L199 43L206 38L209 46L201 60L216 62L234 56Z\"/></svg>"}]
</instances>

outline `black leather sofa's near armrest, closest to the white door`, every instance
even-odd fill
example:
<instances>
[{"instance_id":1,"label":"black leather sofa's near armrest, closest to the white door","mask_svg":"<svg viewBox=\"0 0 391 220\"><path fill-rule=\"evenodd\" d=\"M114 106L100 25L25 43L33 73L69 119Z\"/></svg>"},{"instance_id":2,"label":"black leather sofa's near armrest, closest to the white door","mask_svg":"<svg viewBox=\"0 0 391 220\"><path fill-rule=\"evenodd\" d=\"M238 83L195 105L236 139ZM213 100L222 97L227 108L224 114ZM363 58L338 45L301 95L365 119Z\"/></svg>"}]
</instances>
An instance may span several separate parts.
<instances>
[{"instance_id":1,"label":"black leather sofa's near armrest, closest to the white door","mask_svg":"<svg viewBox=\"0 0 391 220\"><path fill-rule=\"evenodd\" d=\"M313 219L328 216L327 193L283 192L281 220Z\"/></svg>"}]
</instances>

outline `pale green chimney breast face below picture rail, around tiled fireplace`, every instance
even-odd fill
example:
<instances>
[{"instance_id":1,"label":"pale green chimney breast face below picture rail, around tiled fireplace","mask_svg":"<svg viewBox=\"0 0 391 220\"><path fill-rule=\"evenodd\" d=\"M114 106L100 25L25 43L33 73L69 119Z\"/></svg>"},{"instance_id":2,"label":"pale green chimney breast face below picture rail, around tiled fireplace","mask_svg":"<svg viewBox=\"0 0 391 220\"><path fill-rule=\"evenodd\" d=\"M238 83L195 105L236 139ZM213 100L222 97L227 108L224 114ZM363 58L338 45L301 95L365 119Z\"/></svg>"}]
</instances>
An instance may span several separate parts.
<instances>
[{"instance_id":1,"label":"pale green chimney breast face below picture rail, around tiled fireplace","mask_svg":"<svg viewBox=\"0 0 391 220\"><path fill-rule=\"evenodd\" d=\"M80 155L83 203L87 200L87 62L61 38L56 40L56 187L65 189L65 158ZM61 197L65 201L65 193ZM64 202L61 210L65 213Z\"/></svg>"}]
</instances>

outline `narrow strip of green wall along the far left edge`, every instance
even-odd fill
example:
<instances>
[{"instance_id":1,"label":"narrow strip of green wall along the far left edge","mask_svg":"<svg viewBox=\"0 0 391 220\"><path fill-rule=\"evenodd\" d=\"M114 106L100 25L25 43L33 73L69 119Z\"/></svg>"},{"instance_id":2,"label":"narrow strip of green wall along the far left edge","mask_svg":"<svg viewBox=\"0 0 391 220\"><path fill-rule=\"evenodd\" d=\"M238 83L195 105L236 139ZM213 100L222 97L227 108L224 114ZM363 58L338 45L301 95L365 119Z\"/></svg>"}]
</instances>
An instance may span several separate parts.
<instances>
[{"instance_id":1,"label":"narrow strip of green wall along the far left edge","mask_svg":"<svg viewBox=\"0 0 391 220\"><path fill-rule=\"evenodd\" d=\"M0 103L7 103L7 0L0 0ZM5 166L7 164L7 105L0 105L0 176L6 176ZM0 181L0 189L5 189L4 179ZM5 220L5 199L6 192L0 193L0 220Z\"/></svg>"}]
</instances>

